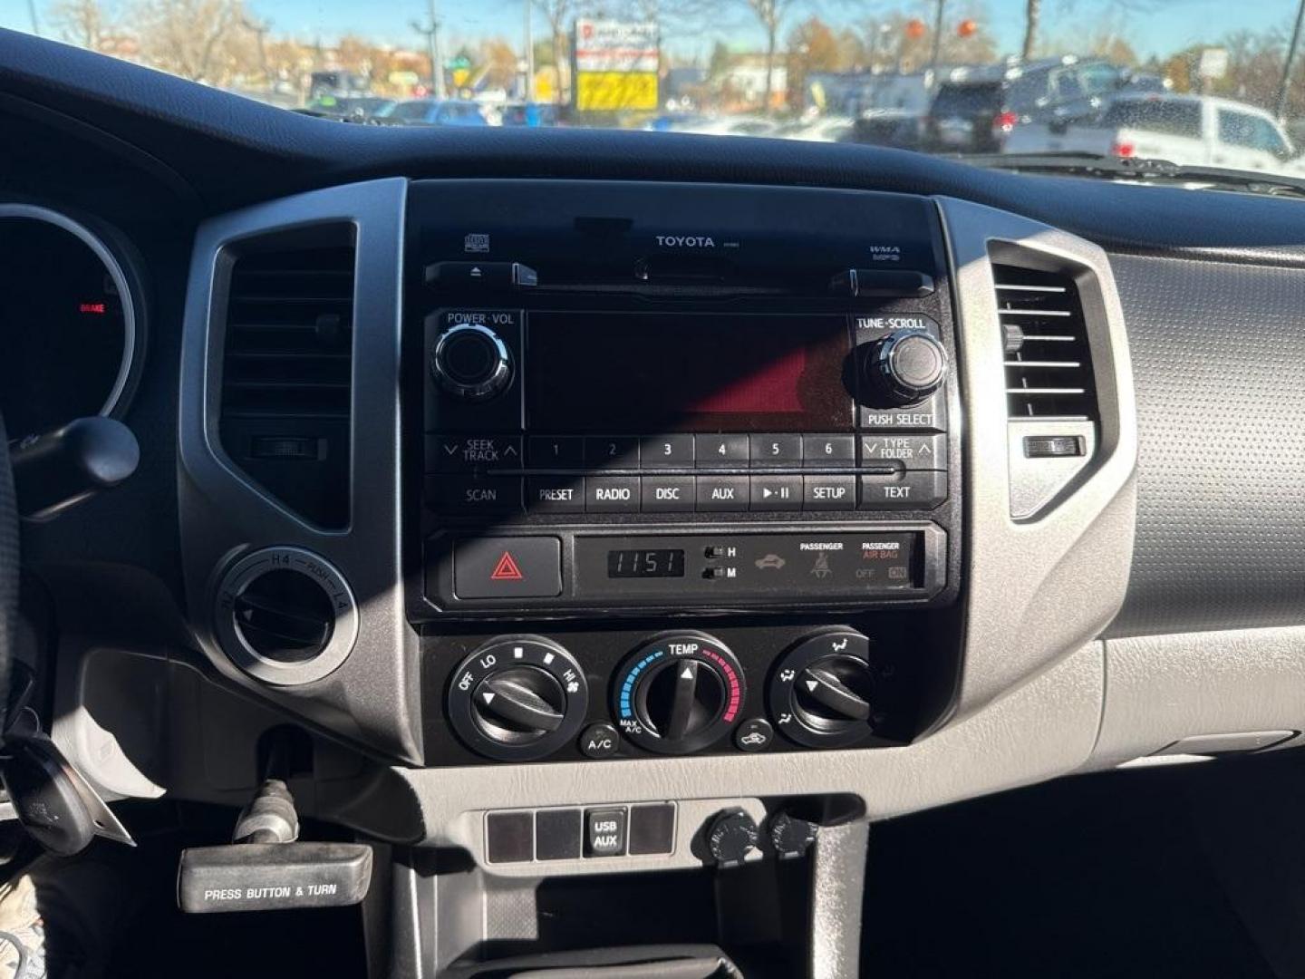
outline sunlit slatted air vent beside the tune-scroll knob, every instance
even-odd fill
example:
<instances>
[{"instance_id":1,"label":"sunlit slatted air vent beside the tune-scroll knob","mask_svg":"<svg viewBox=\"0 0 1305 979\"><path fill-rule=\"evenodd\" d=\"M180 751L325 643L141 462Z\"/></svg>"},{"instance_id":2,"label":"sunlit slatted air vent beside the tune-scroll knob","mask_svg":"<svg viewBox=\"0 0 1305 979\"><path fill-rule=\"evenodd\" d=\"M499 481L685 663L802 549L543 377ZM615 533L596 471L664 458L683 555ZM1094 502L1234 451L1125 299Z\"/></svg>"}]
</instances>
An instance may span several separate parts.
<instances>
[{"instance_id":1,"label":"sunlit slatted air vent beside the tune-scroll knob","mask_svg":"<svg viewBox=\"0 0 1305 979\"><path fill-rule=\"evenodd\" d=\"M1095 422L1092 356L1073 277L996 262L992 272L1010 418Z\"/></svg>"}]
</instances>

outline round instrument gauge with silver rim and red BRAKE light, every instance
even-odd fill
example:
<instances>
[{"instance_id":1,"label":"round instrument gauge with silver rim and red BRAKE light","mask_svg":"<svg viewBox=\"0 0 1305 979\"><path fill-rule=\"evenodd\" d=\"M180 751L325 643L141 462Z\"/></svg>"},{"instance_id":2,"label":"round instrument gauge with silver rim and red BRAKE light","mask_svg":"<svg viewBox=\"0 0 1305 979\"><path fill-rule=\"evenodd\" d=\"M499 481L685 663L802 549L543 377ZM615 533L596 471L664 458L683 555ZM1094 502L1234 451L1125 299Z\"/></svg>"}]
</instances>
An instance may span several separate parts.
<instances>
[{"instance_id":1,"label":"round instrument gauge with silver rim and red BRAKE light","mask_svg":"<svg viewBox=\"0 0 1305 979\"><path fill-rule=\"evenodd\" d=\"M142 320L102 236L46 208L0 204L0 412L22 441L125 410Z\"/></svg>"}]
</instances>

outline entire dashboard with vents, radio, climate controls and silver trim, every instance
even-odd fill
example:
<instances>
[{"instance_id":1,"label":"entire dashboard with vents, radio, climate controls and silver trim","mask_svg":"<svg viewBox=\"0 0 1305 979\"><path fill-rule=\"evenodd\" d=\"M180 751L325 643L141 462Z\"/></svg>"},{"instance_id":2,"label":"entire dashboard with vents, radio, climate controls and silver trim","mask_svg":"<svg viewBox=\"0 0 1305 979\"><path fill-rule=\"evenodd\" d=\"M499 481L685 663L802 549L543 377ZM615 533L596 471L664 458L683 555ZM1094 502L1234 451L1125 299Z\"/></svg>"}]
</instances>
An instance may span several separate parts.
<instances>
[{"instance_id":1,"label":"entire dashboard with vents, radio, climate controls and silver trim","mask_svg":"<svg viewBox=\"0 0 1305 979\"><path fill-rule=\"evenodd\" d=\"M141 445L25 529L107 796L243 804L288 724L315 815L526 880L1305 731L1297 202L4 43L10 439Z\"/></svg>"}]
</instances>

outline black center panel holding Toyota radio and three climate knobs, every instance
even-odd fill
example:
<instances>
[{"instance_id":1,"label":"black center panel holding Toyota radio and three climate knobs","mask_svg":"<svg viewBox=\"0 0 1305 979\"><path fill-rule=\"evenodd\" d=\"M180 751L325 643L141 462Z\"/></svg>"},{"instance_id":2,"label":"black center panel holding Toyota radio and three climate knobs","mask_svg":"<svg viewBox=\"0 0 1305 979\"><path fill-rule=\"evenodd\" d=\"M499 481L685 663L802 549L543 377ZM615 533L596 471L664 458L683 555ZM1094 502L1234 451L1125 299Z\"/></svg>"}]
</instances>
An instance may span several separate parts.
<instances>
[{"instance_id":1,"label":"black center panel holding Toyota radio and three climate knobs","mask_svg":"<svg viewBox=\"0 0 1305 979\"><path fill-rule=\"evenodd\" d=\"M428 762L910 740L959 587L936 205L483 191L408 201Z\"/></svg>"}]
</instances>

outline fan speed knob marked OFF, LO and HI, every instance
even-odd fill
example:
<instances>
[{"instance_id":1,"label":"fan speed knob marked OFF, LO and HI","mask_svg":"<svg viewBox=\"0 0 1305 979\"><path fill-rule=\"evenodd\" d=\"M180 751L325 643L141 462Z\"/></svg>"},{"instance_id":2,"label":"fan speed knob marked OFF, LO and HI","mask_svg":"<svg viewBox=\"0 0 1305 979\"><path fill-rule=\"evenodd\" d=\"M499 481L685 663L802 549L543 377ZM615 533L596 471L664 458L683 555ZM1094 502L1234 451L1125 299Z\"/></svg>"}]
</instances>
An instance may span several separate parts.
<instances>
[{"instance_id":1,"label":"fan speed knob marked OFF, LO and HI","mask_svg":"<svg viewBox=\"0 0 1305 979\"><path fill-rule=\"evenodd\" d=\"M589 685L570 653L538 636L502 636L454 671L448 717L480 754L525 761L569 744L587 706Z\"/></svg>"}]
</instances>

